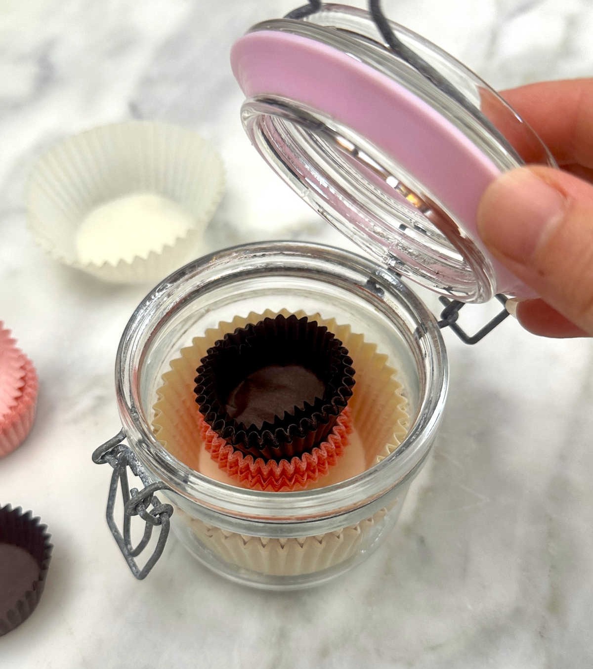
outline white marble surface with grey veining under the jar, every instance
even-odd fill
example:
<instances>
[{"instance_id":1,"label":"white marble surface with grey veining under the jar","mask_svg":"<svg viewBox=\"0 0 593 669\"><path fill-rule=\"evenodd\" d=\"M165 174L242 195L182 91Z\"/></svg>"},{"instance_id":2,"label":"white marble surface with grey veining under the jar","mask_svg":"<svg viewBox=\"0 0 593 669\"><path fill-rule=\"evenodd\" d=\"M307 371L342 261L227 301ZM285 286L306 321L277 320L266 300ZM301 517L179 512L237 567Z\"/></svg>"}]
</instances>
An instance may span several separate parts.
<instances>
[{"instance_id":1,"label":"white marble surface with grey veining under the jar","mask_svg":"<svg viewBox=\"0 0 593 669\"><path fill-rule=\"evenodd\" d=\"M293 6L1 3L0 318L35 361L41 394L29 440L0 461L0 502L42 516L56 548L35 615L0 639L0 666L590 667L593 348L535 339L511 319L473 349L446 334L451 391L438 446L398 529L341 581L250 591L171 541L139 583L107 531L108 471L90 454L118 430L114 354L149 286L100 284L46 258L25 228L27 171L50 142L94 124L181 122L216 142L228 169L211 244L340 244L268 174L238 120L230 44ZM593 72L590 0L386 7L497 87Z\"/></svg>"}]
</instances>

